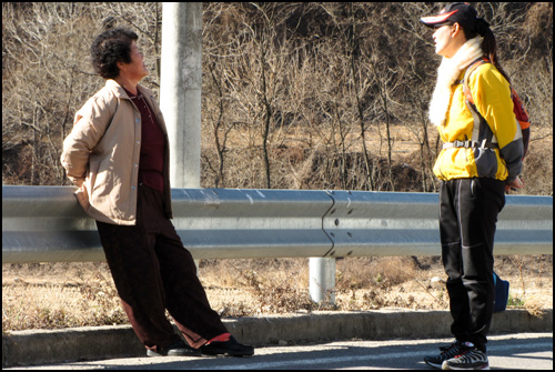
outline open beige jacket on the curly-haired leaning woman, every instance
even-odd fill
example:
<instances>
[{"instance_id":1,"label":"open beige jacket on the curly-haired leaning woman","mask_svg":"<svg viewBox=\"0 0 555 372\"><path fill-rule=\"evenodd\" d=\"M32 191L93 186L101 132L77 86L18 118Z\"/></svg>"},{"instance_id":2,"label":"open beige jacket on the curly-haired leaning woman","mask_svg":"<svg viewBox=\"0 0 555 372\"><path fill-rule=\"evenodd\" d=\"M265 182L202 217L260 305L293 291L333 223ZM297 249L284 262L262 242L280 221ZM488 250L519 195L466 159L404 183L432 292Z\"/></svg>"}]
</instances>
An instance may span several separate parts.
<instances>
[{"instance_id":1,"label":"open beige jacket on the curly-haired leaning woman","mask_svg":"<svg viewBox=\"0 0 555 372\"><path fill-rule=\"evenodd\" d=\"M162 112L150 90L138 87L165 134L165 214L172 218L170 152ZM100 222L135 224L141 114L123 88L107 80L104 88L75 113L73 129L63 141L61 162L80 189L85 212Z\"/></svg>"}]
</instances>

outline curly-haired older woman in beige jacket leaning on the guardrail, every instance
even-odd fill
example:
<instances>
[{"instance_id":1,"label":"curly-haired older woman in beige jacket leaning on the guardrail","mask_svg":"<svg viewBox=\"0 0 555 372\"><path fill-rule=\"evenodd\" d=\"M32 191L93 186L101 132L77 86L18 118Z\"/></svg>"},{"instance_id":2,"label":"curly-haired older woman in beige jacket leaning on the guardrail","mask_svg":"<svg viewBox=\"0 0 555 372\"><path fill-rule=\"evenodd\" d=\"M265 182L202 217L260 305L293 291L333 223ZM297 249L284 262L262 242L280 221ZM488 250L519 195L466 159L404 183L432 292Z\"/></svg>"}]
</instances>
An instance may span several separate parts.
<instances>
[{"instance_id":1,"label":"curly-haired older woman in beige jacket leaning on the guardrail","mask_svg":"<svg viewBox=\"0 0 555 372\"><path fill-rule=\"evenodd\" d=\"M127 29L92 43L105 86L77 112L61 162L79 188L79 203L97 221L112 277L149 356L252 355L210 308L191 253L170 221L168 131L149 74ZM165 309L188 341L174 333Z\"/></svg>"}]
</instances>

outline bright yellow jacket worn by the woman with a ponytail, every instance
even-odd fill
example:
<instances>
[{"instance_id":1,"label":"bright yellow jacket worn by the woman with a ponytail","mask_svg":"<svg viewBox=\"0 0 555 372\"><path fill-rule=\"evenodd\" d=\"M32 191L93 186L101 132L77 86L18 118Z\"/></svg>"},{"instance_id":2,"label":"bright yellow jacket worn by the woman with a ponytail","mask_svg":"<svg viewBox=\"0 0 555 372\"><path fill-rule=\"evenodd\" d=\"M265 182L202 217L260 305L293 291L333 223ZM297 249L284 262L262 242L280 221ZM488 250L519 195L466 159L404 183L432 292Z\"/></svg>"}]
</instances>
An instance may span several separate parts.
<instances>
[{"instance_id":1,"label":"bright yellow jacket worn by the woman with a ponytail","mask_svg":"<svg viewBox=\"0 0 555 372\"><path fill-rule=\"evenodd\" d=\"M464 72L461 72L458 81L463 80ZM509 84L493 63L484 63L470 76L468 87L478 112L495 135L498 149L443 149L435 162L434 174L444 181L476 177L512 181L522 171L523 143L521 127L513 113ZM472 138L474 119L465 103L463 84L455 83L451 93L445 124L438 127L442 141L477 141Z\"/></svg>"}]
</instances>

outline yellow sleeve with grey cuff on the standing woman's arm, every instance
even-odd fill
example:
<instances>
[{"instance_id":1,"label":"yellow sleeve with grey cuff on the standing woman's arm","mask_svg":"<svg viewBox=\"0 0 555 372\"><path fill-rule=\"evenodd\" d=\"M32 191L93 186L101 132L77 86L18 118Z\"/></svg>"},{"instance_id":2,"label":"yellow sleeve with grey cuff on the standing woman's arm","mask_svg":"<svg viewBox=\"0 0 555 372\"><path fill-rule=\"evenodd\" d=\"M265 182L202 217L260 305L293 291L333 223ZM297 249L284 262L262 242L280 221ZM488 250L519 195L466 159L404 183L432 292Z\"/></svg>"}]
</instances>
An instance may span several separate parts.
<instances>
[{"instance_id":1,"label":"yellow sleeve with grey cuff on the standing woman's arm","mask_svg":"<svg viewBox=\"0 0 555 372\"><path fill-rule=\"evenodd\" d=\"M468 83L477 110L497 139L508 171L507 181L513 181L523 169L524 145L521 125L513 112L511 87L492 63L478 67Z\"/></svg>"}]
</instances>

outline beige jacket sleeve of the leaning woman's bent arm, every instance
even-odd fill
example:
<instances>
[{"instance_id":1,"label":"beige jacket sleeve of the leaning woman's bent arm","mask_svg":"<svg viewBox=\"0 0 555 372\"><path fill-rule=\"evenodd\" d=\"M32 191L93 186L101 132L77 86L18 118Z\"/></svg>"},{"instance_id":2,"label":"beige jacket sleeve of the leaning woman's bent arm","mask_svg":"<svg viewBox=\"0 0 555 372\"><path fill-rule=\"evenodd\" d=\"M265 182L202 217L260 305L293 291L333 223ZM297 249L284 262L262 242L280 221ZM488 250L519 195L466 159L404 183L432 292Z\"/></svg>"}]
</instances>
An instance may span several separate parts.
<instances>
[{"instance_id":1,"label":"beige jacket sleeve of the leaning woman's bent arm","mask_svg":"<svg viewBox=\"0 0 555 372\"><path fill-rule=\"evenodd\" d=\"M75 113L71 133L63 141L61 163L73 183L87 177L89 157L102 139L112 114L110 104L94 95Z\"/></svg>"}]
</instances>

